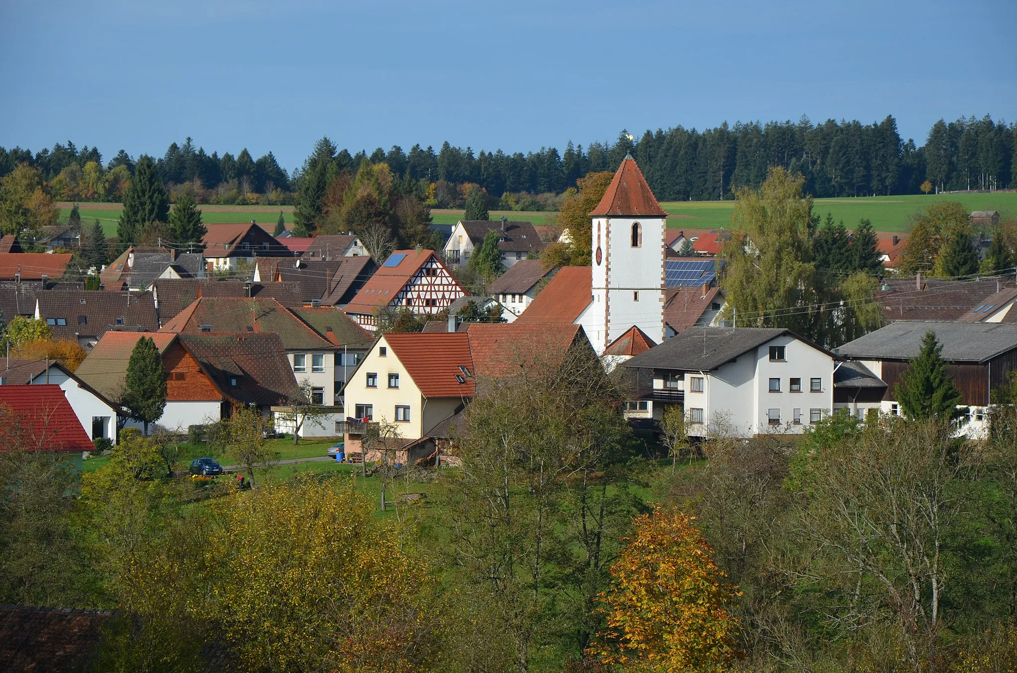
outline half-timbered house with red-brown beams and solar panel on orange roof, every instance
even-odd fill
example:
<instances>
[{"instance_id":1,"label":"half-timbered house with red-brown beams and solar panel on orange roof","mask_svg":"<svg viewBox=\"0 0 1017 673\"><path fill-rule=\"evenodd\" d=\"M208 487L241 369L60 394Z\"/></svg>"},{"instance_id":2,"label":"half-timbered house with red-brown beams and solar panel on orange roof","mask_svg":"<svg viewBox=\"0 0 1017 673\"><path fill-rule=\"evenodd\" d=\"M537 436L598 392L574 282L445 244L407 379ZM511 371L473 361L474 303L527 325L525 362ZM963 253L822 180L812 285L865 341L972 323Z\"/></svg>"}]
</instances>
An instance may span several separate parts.
<instances>
[{"instance_id":1,"label":"half-timbered house with red-brown beams and solar panel on orange roof","mask_svg":"<svg viewBox=\"0 0 1017 673\"><path fill-rule=\"evenodd\" d=\"M437 313L466 295L433 250L397 250L346 305L347 315L364 327L377 325L383 309Z\"/></svg>"}]
</instances>

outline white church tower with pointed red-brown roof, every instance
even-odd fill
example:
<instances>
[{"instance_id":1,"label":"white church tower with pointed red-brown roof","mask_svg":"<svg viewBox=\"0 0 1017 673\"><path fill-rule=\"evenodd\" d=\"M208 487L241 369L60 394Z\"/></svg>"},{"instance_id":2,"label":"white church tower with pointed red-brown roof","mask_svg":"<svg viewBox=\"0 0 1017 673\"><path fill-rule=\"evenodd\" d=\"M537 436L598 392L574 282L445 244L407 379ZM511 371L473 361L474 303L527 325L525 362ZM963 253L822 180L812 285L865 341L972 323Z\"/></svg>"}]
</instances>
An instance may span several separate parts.
<instances>
[{"instance_id":1,"label":"white church tower with pointed red-brown roof","mask_svg":"<svg viewBox=\"0 0 1017 673\"><path fill-rule=\"evenodd\" d=\"M587 336L597 353L633 325L664 341L667 212L627 155L593 218L593 301Z\"/></svg>"}]
</instances>

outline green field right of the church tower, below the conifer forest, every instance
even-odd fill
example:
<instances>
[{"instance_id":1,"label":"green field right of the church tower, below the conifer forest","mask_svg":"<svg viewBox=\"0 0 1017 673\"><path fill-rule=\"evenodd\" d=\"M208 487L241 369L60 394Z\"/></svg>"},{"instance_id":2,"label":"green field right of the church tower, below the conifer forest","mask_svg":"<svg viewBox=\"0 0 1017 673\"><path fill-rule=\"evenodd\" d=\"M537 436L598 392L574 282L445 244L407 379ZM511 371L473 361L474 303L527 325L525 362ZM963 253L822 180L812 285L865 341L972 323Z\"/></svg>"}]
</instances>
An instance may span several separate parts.
<instances>
[{"instance_id":1,"label":"green field right of the church tower, below the conifer forest","mask_svg":"<svg viewBox=\"0 0 1017 673\"><path fill-rule=\"evenodd\" d=\"M843 220L848 229L868 218L876 231L896 233L908 231L911 217L937 201L960 201L971 210L999 210L1004 217L1017 216L1017 192L818 198L813 212L824 219L830 212L834 220ZM734 201L667 201L661 205L672 216L667 223L669 227L690 229L730 227L734 209Z\"/></svg>"}]
</instances>

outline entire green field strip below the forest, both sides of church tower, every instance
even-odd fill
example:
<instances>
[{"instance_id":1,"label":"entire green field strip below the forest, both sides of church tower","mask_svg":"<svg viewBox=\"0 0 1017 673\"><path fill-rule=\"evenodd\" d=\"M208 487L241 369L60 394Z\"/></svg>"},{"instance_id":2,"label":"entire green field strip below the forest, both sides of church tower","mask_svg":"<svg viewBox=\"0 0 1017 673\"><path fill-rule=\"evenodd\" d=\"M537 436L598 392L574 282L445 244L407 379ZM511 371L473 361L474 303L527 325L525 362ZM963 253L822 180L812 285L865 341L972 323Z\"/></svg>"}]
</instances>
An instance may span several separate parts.
<instances>
[{"instance_id":1,"label":"entire green field strip below the forest, both sides of church tower","mask_svg":"<svg viewBox=\"0 0 1017 673\"><path fill-rule=\"evenodd\" d=\"M859 198L818 198L813 211L821 218L827 212L834 220L843 220L849 228L868 218L879 232L906 232L911 226L911 217L936 201L960 201L971 210L999 210L1003 217L1017 216L1017 192L997 192L993 194L933 194L910 196L863 196ZM665 201L661 205L671 213L668 227L689 229L717 229L731 226L731 210L734 201ZM60 221L66 223L70 215L70 203L60 203ZM122 206L119 203L79 203L81 219L92 223L98 219L103 224L107 236L116 236L117 220ZM279 211L287 224L293 224L292 205L202 205L201 219L205 223L256 221L268 230L276 226ZM491 220L502 216L510 220L523 220L535 225L548 224L556 212L521 212L514 210L491 210ZM463 219L463 210L435 208L431 220L437 225L454 225Z\"/></svg>"}]
</instances>

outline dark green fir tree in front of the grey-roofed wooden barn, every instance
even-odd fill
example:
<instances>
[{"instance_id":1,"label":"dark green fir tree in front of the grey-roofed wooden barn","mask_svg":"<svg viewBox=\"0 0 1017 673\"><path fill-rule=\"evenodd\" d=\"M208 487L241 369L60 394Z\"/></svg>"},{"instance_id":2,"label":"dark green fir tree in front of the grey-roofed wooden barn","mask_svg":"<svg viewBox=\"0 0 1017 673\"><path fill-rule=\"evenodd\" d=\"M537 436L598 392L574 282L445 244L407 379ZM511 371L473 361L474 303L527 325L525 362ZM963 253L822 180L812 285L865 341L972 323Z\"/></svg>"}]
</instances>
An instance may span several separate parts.
<instances>
[{"instance_id":1,"label":"dark green fir tree in front of the grey-roofed wooden barn","mask_svg":"<svg viewBox=\"0 0 1017 673\"><path fill-rule=\"evenodd\" d=\"M918 357L911 360L900 383L894 386L894 399L900 403L904 417L912 421L948 423L964 415L964 409L958 408L960 391L947 373L936 332L925 332Z\"/></svg>"}]
</instances>

